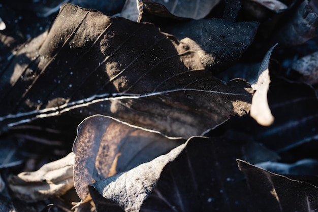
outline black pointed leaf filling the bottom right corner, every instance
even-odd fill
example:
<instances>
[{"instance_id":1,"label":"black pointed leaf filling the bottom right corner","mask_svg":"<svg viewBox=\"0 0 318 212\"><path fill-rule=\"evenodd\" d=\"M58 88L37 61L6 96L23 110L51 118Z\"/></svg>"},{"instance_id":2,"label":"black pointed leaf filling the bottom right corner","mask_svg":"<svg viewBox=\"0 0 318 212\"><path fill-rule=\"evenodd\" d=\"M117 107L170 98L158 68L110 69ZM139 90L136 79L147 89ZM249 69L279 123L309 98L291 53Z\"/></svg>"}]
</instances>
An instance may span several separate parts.
<instances>
[{"instance_id":1,"label":"black pointed leaf filling the bottom right corner","mask_svg":"<svg viewBox=\"0 0 318 212\"><path fill-rule=\"evenodd\" d=\"M318 188L237 160L260 211L315 211ZM266 201L264 201L266 200Z\"/></svg>"}]
</instances>

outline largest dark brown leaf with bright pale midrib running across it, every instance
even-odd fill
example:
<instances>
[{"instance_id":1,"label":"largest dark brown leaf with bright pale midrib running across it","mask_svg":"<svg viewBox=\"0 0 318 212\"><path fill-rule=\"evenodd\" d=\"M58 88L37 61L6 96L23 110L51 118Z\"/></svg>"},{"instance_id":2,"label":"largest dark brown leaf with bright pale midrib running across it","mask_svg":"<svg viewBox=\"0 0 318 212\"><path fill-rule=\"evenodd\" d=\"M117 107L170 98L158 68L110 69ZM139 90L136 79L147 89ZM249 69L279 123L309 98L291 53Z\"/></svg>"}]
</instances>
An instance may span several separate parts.
<instances>
[{"instance_id":1,"label":"largest dark brown leaf with bright pale midrib running across it","mask_svg":"<svg viewBox=\"0 0 318 212\"><path fill-rule=\"evenodd\" d=\"M65 4L40 49L27 51L2 70L2 128L71 111L189 137L249 111L246 82L217 80L152 24Z\"/></svg>"}]
</instances>

